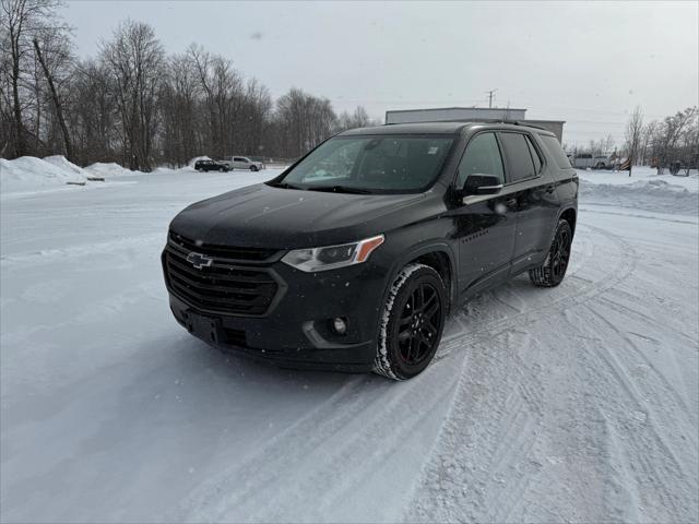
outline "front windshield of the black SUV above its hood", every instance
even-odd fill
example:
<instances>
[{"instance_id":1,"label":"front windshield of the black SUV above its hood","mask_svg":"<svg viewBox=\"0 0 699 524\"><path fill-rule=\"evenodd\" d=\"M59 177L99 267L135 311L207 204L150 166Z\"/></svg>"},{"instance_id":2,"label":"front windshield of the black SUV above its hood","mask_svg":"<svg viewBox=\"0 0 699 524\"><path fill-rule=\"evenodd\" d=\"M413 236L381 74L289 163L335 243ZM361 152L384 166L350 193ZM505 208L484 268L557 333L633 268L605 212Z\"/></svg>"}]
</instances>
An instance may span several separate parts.
<instances>
[{"instance_id":1,"label":"front windshield of the black SUV above its hood","mask_svg":"<svg viewBox=\"0 0 699 524\"><path fill-rule=\"evenodd\" d=\"M311 152L277 186L357 192L416 192L436 179L453 136L336 136Z\"/></svg>"}]
</instances>

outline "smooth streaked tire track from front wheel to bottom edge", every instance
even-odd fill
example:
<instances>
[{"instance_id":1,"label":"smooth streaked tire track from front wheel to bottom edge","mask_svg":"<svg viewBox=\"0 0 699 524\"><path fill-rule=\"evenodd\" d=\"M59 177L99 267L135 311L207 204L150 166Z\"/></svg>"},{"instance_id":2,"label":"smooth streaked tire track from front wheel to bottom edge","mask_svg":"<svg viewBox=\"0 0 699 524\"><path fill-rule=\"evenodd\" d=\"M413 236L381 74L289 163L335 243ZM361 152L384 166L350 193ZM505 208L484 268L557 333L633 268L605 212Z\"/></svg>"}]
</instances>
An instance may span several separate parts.
<instances>
[{"instance_id":1,"label":"smooth streaked tire track from front wheel to bottom edge","mask_svg":"<svg viewBox=\"0 0 699 524\"><path fill-rule=\"evenodd\" d=\"M419 455L405 466L402 453L422 448L422 427L439 428L459 369L440 366L423 376L399 384L379 377L350 379L331 401L202 485L166 520L318 522L353 520L347 514L356 520L357 511L366 512L365 520L376 517L376 508L390 493L378 498L369 487L391 471L400 481L401 468L408 478L419 469ZM412 397L419 397L420 409L405 402Z\"/></svg>"}]
</instances>

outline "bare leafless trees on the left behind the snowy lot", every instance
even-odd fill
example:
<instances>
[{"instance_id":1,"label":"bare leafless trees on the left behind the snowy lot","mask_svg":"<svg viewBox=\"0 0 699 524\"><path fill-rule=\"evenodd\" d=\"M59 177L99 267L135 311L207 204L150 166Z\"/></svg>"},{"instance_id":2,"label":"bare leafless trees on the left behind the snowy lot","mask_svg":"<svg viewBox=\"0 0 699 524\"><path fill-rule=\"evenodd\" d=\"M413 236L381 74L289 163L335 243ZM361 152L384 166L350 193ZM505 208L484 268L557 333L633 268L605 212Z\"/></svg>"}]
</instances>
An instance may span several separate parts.
<instances>
[{"instance_id":1,"label":"bare leafless trees on the left behind the snowy lot","mask_svg":"<svg viewBox=\"0 0 699 524\"><path fill-rule=\"evenodd\" d=\"M192 44L167 53L154 28L126 20L76 57L62 0L0 0L0 156L63 154L79 165L182 166L194 156L295 158L372 122L291 88L274 100L233 61Z\"/></svg>"}]
</instances>

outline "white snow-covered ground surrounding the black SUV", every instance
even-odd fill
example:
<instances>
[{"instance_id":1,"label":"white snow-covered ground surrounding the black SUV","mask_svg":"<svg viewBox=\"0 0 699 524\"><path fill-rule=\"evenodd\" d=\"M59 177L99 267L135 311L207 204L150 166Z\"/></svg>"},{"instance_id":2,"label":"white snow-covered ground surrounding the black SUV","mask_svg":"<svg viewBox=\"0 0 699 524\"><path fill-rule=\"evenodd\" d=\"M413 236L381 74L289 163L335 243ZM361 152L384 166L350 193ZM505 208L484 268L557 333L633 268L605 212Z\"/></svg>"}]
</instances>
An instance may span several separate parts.
<instances>
[{"instance_id":1,"label":"white snow-covered ground surrounding the black SUV","mask_svg":"<svg viewBox=\"0 0 699 524\"><path fill-rule=\"evenodd\" d=\"M279 171L75 187L22 162L0 166L22 180L0 194L2 522L699 519L696 178L581 172L565 282L471 301L393 383L226 356L171 319L171 216Z\"/></svg>"}]
</instances>

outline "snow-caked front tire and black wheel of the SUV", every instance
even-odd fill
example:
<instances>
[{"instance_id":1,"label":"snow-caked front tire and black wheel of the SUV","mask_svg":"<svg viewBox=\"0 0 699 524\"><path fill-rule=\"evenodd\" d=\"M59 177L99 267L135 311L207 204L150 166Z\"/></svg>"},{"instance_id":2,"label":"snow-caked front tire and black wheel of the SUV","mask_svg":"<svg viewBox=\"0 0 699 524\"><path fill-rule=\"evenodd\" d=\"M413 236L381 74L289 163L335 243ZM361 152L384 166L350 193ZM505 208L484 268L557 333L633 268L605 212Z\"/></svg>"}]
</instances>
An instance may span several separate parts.
<instances>
[{"instance_id":1,"label":"snow-caked front tire and black wheel of the SUV","mask_svg":"<svg viewBox=\"0 0 699 524\"><path fill-rule=\"evenodd\" d=\"M407 380L425 370L439 347L448 309L439 273L418 263L403 267L382 308L374 372Z\"/></svg>"}]
</instances>

